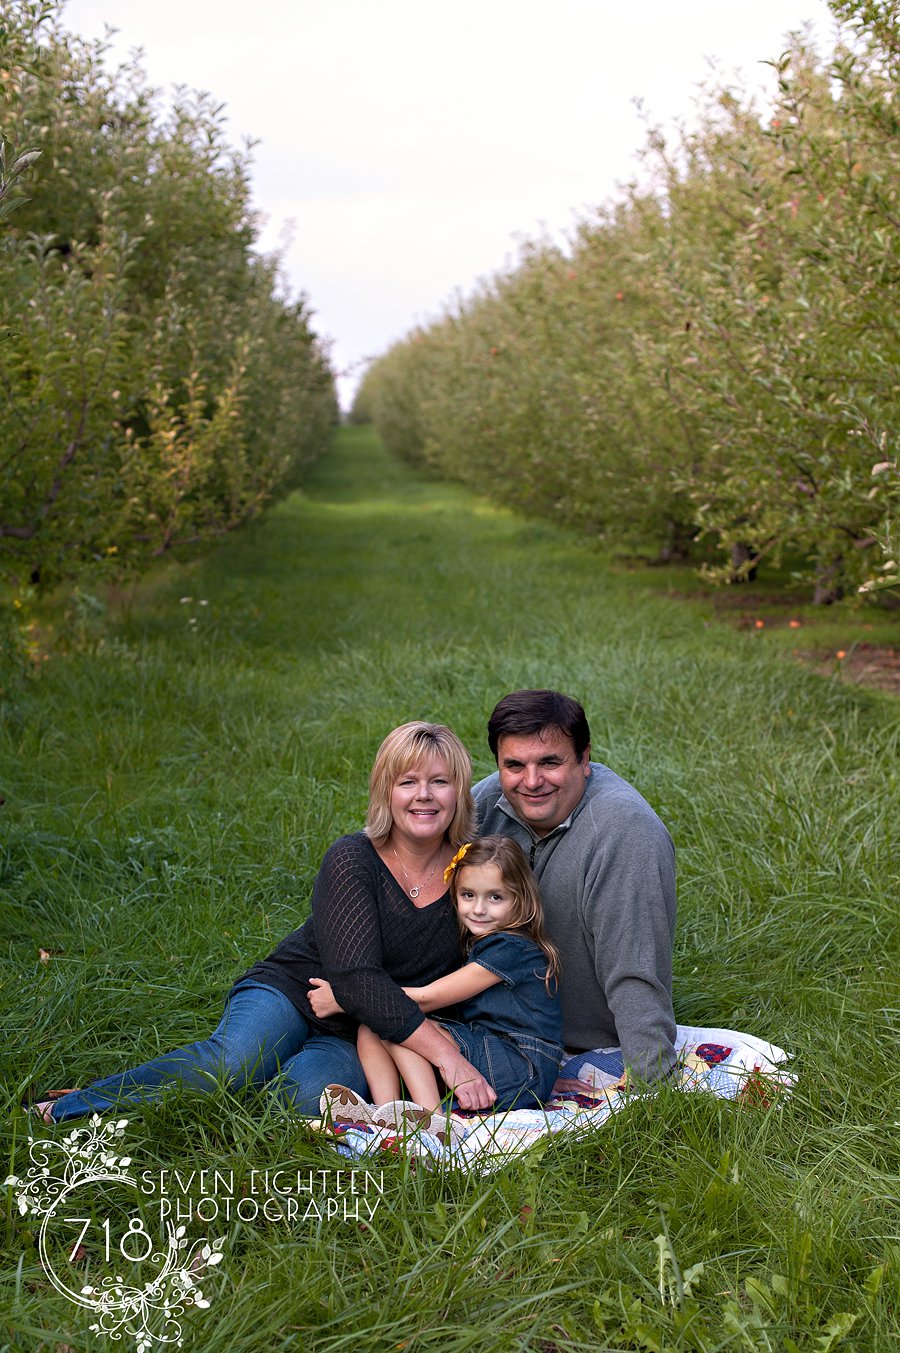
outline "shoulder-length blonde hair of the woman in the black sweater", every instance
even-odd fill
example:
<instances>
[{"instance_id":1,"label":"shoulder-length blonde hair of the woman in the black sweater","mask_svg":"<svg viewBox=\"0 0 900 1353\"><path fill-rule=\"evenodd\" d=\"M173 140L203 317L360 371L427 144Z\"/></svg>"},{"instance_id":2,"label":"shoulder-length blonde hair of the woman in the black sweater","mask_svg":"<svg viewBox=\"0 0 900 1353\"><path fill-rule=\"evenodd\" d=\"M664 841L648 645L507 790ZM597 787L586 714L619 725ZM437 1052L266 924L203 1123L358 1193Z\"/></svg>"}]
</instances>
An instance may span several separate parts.
<instances>
[{"instance_id":1,"label":"shoulder-length blonde hair of the woman in the black sweater","mask_svg":"<svg viewBox=\"0 0 900 1353\"><path fill-rule=\"evenodd\" d=\"M387 735L375 755L368 778L368 812L365 835L375 846L383 846L391 833L391 790L397 779L422 762L440 756L447 763L451 783L456 790L456 812L447 829L451 846L462 846L475 827L472 800L472 763L456 733L445 724L425 724L415 720L401 724Z\"/></svg>"}]
</instances>

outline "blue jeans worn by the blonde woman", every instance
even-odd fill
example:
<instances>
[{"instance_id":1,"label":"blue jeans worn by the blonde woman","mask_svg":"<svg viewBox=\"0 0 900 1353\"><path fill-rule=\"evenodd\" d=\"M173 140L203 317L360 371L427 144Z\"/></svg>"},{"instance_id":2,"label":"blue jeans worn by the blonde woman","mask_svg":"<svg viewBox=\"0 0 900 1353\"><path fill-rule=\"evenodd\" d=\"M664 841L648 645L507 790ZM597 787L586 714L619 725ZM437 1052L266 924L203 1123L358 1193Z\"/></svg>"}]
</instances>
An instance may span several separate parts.
<instances>
[{"instance_id":1,"label":"blue jeans worn by the blonde woman","mask_svg":"<svg viewBox=\"0 0 900 1353\"><path fill-rule=\"evenodd\" d=\"M279 1097L298 1114L317 1115L319 1095L334 1082L363 1097L368 1095L353 1043L317 1032L273 986L241 982L210 1038L64 1095L50 1115L54 1123L65 1123L85 1114L158 1100L173 1085L211 1095L222 1082L237 1091L265 1085L273 1077L279 1077Z\"/></svg>"}]
</instances>

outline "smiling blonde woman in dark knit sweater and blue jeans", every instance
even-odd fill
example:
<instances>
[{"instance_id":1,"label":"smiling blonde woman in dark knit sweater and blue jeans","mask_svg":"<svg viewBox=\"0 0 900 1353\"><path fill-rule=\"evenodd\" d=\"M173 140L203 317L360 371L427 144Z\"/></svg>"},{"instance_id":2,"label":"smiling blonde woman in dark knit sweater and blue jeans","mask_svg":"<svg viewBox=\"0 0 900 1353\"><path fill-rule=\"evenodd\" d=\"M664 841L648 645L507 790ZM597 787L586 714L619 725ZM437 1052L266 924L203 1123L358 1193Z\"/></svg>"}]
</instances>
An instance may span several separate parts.
<instances>
[{"instance_id":1,"label":"smiling blonde woman in dark knit sweater and blue jeans","mask_svg":"<svg viewBox=\"0 0 900 1353\"><path fill-rule=\"evenodd\" d=\"M211 1092L279 1076L300 1114L317 1114L326 1085L367 1093L356 1027L402 1043L437 1068L466 1108L494 1092L402 986L422 986L459 966L459 931L444 884L472 833L471 762L443 724L403 724L378 750L365 831L326 851L313 915L229 993L214 1034L84 1091L37 1105L45 1123L160 1099L172 1085ZM317 1016L310 981L325 978L345 1013Z\"/></svg>"}]
</instances>

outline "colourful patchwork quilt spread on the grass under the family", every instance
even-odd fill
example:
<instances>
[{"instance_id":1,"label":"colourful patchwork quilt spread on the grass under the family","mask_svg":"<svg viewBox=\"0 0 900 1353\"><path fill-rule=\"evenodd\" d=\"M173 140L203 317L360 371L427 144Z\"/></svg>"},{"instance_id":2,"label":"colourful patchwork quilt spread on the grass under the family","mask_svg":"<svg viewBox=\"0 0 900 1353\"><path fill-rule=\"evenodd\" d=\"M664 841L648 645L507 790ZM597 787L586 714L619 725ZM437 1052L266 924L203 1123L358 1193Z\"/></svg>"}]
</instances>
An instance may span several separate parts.
<instances>
[{"instance_id":1,"label":"colourful patchwork quilt spread on the grass under the family","mask_svg":"<svg viewBox=\"0 0 900 1353\"><path fill-rule=\"evenodd\" d=\"M789 1093L794 1084L794 1077L785 1070L788 1053L752 1034L679 1024L675 1047L675 1084L685 1091L767 1104L775 1095ZM593 1132L633 1101L636 1096L625 1078L604 1069L614 1065L610 1053L617 1050L598 1049L578 1059L578 1077L594 1085L590 1095L560 1095L540 1109L512 1108L505 1114L438 1109L430 1114L403 1100L378 1107L365 1104L351 1091L334 1086L322 1096L322 1118L311 1126L325 1132L341 1155L351 1160L405 1151L455 1169L489 1173L549 1134Z\"/></svg>"}]
</instances>

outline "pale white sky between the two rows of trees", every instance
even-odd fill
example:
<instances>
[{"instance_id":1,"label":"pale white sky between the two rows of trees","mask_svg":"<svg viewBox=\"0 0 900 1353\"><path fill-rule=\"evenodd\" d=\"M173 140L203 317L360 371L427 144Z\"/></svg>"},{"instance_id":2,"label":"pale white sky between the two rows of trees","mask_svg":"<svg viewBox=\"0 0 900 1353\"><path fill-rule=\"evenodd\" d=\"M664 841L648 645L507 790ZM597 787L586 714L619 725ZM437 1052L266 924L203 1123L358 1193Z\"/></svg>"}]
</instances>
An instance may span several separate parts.
<instances>
[{"instance_id":1,"label":"pale white sky between the two rows of trees","mask_svg":"<svg viewBox=\"0 0 900 1353\"><path fill-rule=\"evenodd\" d=\"M150 84L211 92L258 139L260 245L333 340L346 405L360 361L514 261L562 239L637 172L654 123L690 120L712 66L761 65L826 0L68 0L84 37L118 28ZM712 65L711 65L712 64Z\"/></svg>"}]
</instances>

